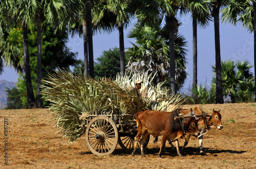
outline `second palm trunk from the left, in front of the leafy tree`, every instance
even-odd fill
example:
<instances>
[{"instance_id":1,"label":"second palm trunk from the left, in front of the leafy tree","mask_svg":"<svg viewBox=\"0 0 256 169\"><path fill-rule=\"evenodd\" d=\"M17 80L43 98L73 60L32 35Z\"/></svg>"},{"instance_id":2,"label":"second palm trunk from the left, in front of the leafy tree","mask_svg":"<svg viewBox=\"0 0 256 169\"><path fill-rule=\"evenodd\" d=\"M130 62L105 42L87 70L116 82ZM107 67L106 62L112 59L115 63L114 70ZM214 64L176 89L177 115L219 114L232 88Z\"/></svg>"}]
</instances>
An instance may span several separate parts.
<instances>
[{"instance_id":1,"label":"second palm trunk from the left, in front of the leafy tree","mask_svg":"<svg viewBox=\"0 0 256 169\"><path fill-rule=\"evenodd\" d=\"M36 18L36 41L37 41L37 86L36 86L36 107L40 108L42 106L42 99L40 94L40 86L42 84L42 40L41 40L41 27L42 21L41 16L37 15Z\"/></svg>"}]
</instances>

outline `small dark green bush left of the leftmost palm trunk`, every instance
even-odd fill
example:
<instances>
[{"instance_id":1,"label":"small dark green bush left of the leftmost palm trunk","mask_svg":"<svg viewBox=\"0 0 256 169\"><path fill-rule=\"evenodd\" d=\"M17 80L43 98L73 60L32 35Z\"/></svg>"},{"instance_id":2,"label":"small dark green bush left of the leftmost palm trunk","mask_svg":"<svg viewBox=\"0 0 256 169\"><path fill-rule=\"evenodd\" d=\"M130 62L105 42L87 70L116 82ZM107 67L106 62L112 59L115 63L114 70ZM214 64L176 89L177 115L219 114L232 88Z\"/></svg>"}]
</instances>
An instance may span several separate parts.
<instances>
[{"instance_id":1,"label":"small dark green bush left of the leftmost palm trunk","mask_svg":"<svg viewBox=\"0 0 256 169\"><path fill-rule=\"evenodd\" d=\"M6 88L7 93L7 107L5 109L20 109L23 108L22 105L22 98L23 93L18 90L16 87L12 88L11 90L9 88Z\"/></svg>"}]
</instances>

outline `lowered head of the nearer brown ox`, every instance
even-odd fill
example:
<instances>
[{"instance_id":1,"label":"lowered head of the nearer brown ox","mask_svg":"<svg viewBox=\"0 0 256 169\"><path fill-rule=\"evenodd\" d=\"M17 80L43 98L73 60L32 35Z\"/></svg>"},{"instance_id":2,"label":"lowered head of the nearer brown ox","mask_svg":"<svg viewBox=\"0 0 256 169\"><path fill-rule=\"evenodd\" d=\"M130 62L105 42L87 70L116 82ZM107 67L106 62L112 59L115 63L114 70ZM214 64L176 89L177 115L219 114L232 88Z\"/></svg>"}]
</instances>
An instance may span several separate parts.
<instances>
[{"instance_id":1,"label":"lowered head of the nearer brown ox","mask_svg":"<svg viewBox=\"0 0 256 169\"><path fill-rule=\"evenodd\" d=\"M196 137L200 134L197 120L194 116L186 118L182 123L184 124L184 130L187 134L194 135Z\"/></svg>"}]
</instances>

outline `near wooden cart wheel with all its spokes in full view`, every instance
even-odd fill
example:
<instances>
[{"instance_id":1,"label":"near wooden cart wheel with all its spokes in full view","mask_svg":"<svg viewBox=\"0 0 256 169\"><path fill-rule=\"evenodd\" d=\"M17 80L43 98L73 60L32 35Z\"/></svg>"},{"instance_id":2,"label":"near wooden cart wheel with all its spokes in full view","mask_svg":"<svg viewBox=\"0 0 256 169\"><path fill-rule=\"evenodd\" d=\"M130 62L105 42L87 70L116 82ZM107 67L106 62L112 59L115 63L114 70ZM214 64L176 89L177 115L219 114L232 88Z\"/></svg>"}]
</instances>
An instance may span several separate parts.
<instances>
[{"instance_id":1,"label":"near wooden cart wheel with all its spokes in full view","mask_svg":"<svg viewBox=\"0 0 256 169\"><path fill-rule=\"evenodd\" d=\"M93 118L86 128L86 143L94 155L113 153L118 143L118 130L115 123L106 116Z\"/></svg>"}]
</instances>

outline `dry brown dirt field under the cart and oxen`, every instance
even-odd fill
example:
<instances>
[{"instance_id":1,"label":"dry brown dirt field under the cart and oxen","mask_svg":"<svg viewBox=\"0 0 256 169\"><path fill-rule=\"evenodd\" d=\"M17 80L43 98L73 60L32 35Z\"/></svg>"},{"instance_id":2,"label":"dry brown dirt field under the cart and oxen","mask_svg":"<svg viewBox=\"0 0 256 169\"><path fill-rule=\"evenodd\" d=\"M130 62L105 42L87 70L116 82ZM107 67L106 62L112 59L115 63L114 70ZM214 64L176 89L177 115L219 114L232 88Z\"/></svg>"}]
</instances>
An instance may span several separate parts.
<instances>
[{"instance_id":1,"label":"dry brown dirt field under the cart and oxen","mask_svg":"<svg viewBox=\"0 0 256 169\"><path fill-rule=\"evenodd\" d=\"M194 107L195 105L184 105ZM211 129L204 135L201 155L198 139L191 137L183 152L177 156L166 143L167 152L158 158L160 139L147 146L146 158L132 157L119 145L109 156L93 155L82 136L74 143L58 135L48 109L0 110L0 168L256 168L256 104L200 105L205 112L221 109L223 129ZM8 120L8 151L4 120ZM183 140L180 139L180 146ZM8 165L5 165L5 153Z\"/></svg>"}]
</instances>

